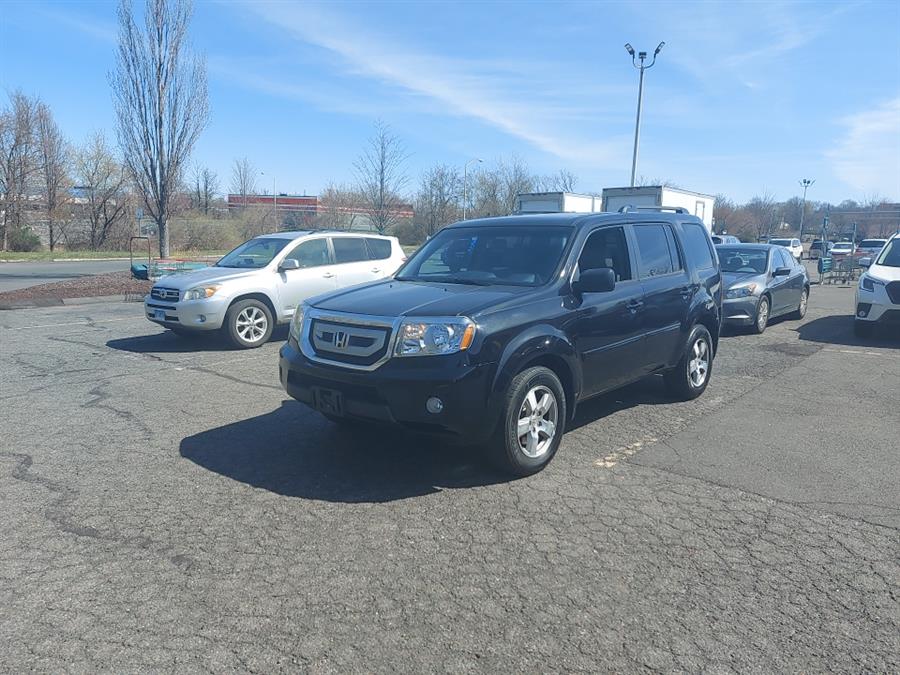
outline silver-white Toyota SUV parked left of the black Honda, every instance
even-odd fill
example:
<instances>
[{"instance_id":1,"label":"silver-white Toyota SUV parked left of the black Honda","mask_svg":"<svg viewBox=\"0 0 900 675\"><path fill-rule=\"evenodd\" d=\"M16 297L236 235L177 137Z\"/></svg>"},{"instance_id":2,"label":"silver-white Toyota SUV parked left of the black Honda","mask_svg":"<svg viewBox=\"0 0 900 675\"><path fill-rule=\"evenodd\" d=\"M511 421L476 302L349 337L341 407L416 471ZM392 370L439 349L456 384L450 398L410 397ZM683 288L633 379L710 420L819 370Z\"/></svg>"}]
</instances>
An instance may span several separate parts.
<instances>
[{"instance_id":1,"label":"silver-white Toyota SUV parked left of the black Honda","mask_svg":"<svg viewBox=\"0 0 900 675\"><path fill-rule=\"evenodd\" d=\"M304 300L392 276L406 260L396 237L358 232L278 232L255 237L211 267L160 278L147 318L179 335L222 329L259 347Z\"/></svg>"}]
</instances>

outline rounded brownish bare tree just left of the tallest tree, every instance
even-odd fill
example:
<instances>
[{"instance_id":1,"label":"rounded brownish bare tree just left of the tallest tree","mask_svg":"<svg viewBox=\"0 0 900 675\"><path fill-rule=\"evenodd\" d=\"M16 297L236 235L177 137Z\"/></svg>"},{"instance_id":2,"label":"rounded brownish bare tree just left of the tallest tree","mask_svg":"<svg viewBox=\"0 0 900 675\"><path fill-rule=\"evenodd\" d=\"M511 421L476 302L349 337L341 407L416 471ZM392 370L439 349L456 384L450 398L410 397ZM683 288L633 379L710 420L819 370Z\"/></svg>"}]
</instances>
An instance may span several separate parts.
<instances>
[{"instance_id":1,"label":"rounded brownish bare tree just left of the tallest tree","mask_svg":"<svg viewBox=\"0 0 900 675\"><path fill-rule=\"evenodd\" d=\"M75 178L85 199L90 245L96 250L106 243L126 215L128 173L98 133L76 154Z\"/></svg>"}]
</instances>

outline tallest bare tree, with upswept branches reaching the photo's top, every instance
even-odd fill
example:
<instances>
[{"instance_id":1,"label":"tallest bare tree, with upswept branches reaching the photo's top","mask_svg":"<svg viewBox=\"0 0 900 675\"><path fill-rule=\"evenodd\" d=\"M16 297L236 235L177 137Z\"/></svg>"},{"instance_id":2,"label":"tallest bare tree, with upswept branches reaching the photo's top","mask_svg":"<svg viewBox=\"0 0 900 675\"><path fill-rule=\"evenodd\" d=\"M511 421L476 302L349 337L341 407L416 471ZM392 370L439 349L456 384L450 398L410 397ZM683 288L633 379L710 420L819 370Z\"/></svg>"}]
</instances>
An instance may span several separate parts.
<instances>
[{"instance_id":1,"label":"tallest bare tree, with upswept branches reaching the photo's top","mask_svg":"<svg viewBox=\"0 0 900 675\"><path fill-rule=\"evenodd\" d=\"M147 0L144 26L119 5L117 67L110 81L125 164L169 255L169 213L191 149L209 120L206 64L189 52L189 0Z\"/></svg>"}]
</instances>

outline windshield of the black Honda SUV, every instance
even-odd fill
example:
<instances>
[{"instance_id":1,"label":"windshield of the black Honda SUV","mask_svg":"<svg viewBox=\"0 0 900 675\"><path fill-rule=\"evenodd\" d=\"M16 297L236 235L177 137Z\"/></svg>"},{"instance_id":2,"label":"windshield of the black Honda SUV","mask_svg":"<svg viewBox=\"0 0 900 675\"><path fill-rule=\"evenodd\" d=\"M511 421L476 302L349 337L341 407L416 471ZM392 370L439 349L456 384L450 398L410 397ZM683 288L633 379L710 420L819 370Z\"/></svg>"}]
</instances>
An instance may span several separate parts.
<instances>
[{"instance_id":1,"label":"windshield of the black Honda SUV","mask_svg":"<svg viewBox=\"0 0 900 675\"><path fill-rule=\"evenodd\" d=\"M550 281L572 234L568 227L453 227L400 270L401 281L540 286Z\"/></svg>"}]
</instances>

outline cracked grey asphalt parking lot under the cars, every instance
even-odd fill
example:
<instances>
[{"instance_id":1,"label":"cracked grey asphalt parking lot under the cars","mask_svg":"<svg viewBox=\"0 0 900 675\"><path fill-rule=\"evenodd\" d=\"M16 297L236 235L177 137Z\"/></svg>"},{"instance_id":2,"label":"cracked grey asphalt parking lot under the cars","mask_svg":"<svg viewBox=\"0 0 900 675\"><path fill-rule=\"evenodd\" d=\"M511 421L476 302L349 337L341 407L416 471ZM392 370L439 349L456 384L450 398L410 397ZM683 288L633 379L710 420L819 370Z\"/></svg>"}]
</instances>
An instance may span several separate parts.
<instances>
[{"instance_id":1,"label":"cracked grey asphalt parking lot under the cars","mask_svg":"<svg viewBox=\"0 0 900 675\"><path fill-rule=\"evenodd\" d=\"M0 669L898 672L900 338L852 298L516 481L288 400L277 339L0 313Z\"/></svg>"}]
</instances>

